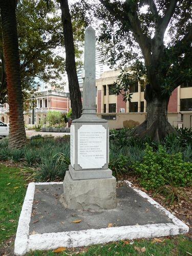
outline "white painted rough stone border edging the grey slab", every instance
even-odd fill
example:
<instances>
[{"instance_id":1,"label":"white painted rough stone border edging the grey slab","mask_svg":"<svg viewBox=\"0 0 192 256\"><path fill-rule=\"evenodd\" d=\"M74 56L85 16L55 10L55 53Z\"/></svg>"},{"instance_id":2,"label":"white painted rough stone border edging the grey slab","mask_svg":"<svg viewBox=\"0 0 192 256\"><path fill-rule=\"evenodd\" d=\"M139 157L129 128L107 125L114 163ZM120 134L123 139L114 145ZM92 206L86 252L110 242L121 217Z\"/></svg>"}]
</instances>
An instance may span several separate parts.
<instances>
[{"instance_id":1,"label":"white painted rough stone border edging the grey slab","mask_svg":"<svg viewBox=\"0 0 192 256\"><path fill-rule=\"evenodd\" d=\"M16 255L23 255L30 250L49 250L56 249L58 247L88 246L123 239L174 236L176 234L188 232L189 228L186 224L172 215L146 193L140 189L134 188L131 182L125 181L125 183L132 187L141 197L146 198L148 202L153 204L159 210L163 211L164 214L173 221L173 223L121 226L29 235L29 223L32 212L35 185L62 184L62 182L30 183L19 218L14 253Z\"/></svg>"}]
</instances>

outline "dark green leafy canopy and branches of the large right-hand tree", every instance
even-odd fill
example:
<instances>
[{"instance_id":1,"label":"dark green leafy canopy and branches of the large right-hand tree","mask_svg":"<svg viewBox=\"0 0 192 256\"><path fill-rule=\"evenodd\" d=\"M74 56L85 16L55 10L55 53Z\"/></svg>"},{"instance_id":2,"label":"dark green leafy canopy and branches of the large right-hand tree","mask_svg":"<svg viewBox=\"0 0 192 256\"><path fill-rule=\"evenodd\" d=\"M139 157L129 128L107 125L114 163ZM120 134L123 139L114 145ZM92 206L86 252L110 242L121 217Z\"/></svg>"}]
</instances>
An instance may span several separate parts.
<instances>
[{"instance_id":1,"label":"dark green leafy canopy and branches of the large right-hand tree","mask_svg":"<svg viewBox=\"0 0 192 256\"><path fill-rule=\"evenodd\" d=\"M166 98L191 80L190 0L83 0L82 5L100 20L100 50L111 67L129 68ZM126 84L129 89L136 77L121 74L117 92Z\"/></svg>"}]
</instances>

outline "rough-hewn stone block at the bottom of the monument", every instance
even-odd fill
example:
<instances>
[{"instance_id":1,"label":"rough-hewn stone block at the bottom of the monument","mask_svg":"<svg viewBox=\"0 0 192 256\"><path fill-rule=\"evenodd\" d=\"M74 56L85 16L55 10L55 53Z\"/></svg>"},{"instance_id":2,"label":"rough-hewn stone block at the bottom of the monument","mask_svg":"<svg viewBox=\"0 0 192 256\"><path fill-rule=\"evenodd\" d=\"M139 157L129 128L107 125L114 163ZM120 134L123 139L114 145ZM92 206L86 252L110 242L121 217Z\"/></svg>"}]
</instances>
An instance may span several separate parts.
<instances>
[{"instance_id":1,"label":"rough-hewn stone block at the bottom of the monument","mask_svg":"<svg viewBox=\"0 0 192 256\"><path fill-rule=\"evenodd\" d=\"M117 205L116 178L73 180L67 171L60 202L68 209L113 209Z\"/></svg>"}]
</instances>

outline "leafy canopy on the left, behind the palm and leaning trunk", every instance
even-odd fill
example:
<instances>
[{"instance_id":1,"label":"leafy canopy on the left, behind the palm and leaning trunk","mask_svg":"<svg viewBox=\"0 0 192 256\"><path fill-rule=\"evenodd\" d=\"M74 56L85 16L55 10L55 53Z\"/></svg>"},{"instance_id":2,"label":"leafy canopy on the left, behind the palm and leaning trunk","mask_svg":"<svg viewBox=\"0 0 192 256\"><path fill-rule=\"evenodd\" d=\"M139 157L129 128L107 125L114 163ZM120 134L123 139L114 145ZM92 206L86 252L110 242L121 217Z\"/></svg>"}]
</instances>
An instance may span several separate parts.
<instances>
[{"instance_id":1,"label":"leafy canopy on the left, behind the palm and leaning trunk","mask_svg":"<svg viewBox=\"0 0 192 256\"><path fill-rule=\"evenodd\" d=\"M27 99L42 83L57 87L65 73L60 6L56 0L49 1L49 5L45 0L22 0L18 1L16 16L20 74L24 98ZM84 23L74 18L73 29L77 65L81 65ZM0 81L0 103L4 103L7 101L7 86L1 37Z\"/></svg>"}]
</instances>

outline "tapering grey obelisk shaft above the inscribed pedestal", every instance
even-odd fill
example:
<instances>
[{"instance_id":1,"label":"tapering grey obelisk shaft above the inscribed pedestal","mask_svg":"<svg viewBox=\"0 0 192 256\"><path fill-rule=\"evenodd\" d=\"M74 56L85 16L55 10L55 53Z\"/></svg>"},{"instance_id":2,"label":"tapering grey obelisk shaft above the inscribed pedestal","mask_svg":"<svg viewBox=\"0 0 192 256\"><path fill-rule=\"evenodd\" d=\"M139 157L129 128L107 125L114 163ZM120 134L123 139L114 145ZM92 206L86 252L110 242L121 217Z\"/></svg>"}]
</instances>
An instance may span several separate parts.
<instances>
[{"instance_id":1,"label":"tapering grey obelisk shaft above the inscribed pedestal","mask_svg":"<svg viewBox=\"0 0 192 256\"><path fill-rule=\"evenodd\" d=\"M84 39L84 80L82 114L95 114L95 30L89 26Z\"/></svg>"}]
</instances>

